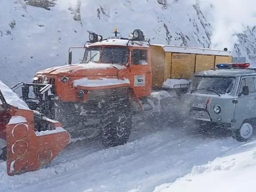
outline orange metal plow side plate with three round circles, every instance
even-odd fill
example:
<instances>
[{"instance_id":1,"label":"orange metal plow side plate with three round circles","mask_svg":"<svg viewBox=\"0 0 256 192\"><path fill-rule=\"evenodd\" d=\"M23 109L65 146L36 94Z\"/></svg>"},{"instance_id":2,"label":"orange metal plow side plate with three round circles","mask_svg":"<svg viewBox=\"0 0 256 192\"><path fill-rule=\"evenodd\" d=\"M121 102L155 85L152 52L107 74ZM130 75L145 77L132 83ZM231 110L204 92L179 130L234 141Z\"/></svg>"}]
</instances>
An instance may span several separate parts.
<instances>
[{"instance_id":1,"label":"orange metal plow side plate with three round circles","mask_svg":"<svg viewBox=\"0 0 256 192\"><path fill-rule=\"evenodd\" d=\"M65 148L70 135L61 123L51 122L52 130L35 132L33 111L17 110L6 125L7 174L40 169Z\"/></svg>"}]
</instances>

